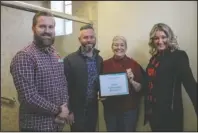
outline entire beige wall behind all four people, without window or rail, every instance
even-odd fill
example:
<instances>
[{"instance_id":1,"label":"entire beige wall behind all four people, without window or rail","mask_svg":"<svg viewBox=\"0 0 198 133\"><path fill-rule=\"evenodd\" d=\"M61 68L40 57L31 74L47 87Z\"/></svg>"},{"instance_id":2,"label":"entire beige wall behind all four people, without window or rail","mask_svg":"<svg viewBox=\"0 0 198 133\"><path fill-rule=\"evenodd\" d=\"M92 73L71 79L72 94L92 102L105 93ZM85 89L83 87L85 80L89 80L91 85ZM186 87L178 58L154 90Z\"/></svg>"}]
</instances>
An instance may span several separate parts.
<instances>
[{"instance_id":1,"label":"entire beige wall behind all four people, without window or rail","mask_svg":"<svg viewBox=\"0 0 198 133\"><path fill-rule=\"evenodd\" d=\"M47 7L43 1L28 1ZM112 56L110 45L113 36L123 35L128 40L127 54L135 58L144 68L148 63L148 35L153 24L169 24L182 49L186 50L190 65L197 79L197 3L196 2L97 2L73 1L73 14L94 22L98 38L97 47L104 59ZM49 7L49 6L48 6ZM14 54L32 40L31 23L33 13L1 6L1 95L15 97L16 91L9 73ZM78 46L78 31L82 23L74 22L74 32L56 37L55 45L62 57L75 51ZM185 108L185 131L195 131L197 122L192 104L183 91ZM105 131L102 106L100 106L99 129ZM2 106L1 131L18 130L18 103L15 107ZM10 124L12 123L12 124ZM138 131L148 131L143 125L143 103L138 122Z\"/></svg>"}]
</instances>

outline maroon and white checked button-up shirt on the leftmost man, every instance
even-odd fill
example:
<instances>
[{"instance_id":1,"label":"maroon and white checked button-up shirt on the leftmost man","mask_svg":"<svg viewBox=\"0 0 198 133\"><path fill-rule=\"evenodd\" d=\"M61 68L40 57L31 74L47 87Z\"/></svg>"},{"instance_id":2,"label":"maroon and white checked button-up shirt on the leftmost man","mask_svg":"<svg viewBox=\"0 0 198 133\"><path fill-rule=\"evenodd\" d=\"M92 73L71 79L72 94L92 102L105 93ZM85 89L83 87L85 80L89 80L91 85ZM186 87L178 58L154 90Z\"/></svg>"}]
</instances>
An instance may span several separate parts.
<instances>
[{"instance_id":1,"label":"maroon and white checked button-up shirt on the leftmost man","mask_svg":"<svg viewBox=\"0 0 198 133\"><path fill-rule=\"evenodd\" d=\"M18 92L19 127L57 131L54 122L60 105L68 103L63 62L53 47L40 49L34 42L13 58L10 72Z\"/></svg>"}]
</instances>

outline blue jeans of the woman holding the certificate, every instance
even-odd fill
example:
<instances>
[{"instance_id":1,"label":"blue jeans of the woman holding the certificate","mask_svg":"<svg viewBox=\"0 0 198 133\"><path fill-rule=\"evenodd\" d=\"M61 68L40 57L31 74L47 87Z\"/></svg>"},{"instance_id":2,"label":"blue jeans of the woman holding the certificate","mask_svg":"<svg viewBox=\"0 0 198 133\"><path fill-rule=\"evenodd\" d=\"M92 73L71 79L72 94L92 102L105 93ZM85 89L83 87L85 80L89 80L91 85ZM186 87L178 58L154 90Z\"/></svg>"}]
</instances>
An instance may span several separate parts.
<instances>
[{"instance_id":1,"label":"blue jeans of the woman holding the certificate","mask_svg":"<svg viewBox=\"0 0 198 133\"><path fill-rule=\"evenodd\" d=\"M120 113L104 109L104 119L108 132L133 132L136 129L137 109Z\"/></svg>"}]
</instances>

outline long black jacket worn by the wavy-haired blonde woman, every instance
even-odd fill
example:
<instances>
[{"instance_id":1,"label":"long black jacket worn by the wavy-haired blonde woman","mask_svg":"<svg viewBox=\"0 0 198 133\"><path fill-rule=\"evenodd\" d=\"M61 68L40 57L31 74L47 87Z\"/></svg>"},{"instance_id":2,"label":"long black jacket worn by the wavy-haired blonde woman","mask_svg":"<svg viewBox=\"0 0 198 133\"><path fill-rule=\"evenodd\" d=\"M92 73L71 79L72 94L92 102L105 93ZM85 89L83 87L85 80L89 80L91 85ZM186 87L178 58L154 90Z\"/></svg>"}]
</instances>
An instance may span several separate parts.
<instances>
[{"instance_id":1,"label":"long black jacket worn by the wavy-haired blonde woman","mask_svg":"<svg viewBox=\"0 0 198 133\"><path fill-rule=\"evenodd\" d=\"M153 114L157 113L158 116L170 117L171 121L169 122L174 124L176 130L182 131L183 103L181 85L184 85L197 114L197 82L193 77L185 51L166 51L160 55L159 61L160 66L156 69L157 75L154 81L154 93L157 100ZM147 96L148 93L145 93L145 113L148 111ZM166 116L165 113L169 110L171 115ZM161 117L160 120L163 121Z\"/></svg>"}]
</instances>

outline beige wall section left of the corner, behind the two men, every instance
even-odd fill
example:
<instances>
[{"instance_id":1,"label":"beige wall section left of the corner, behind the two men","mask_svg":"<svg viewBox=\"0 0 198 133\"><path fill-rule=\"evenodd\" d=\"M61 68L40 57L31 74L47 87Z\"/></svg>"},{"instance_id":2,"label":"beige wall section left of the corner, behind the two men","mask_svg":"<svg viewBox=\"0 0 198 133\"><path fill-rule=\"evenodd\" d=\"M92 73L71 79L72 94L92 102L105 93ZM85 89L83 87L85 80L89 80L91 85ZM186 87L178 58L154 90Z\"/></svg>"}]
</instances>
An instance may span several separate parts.
<instances>
[{"instance_id":1,"label":"beige wall section left of the corner, behind the two men","mask_svg":"<svg viewBox=\"0 0 198 133\"><path fill-rule=\"evenodd\" d=\"M24 1L23 1L24 2ZM49 8L49 1L28 1L27 3ZM97 27L97 2L73 1L73 15L93 20ZM9 72L10 62L16 52L33 39L31 30L34 13L1 6L1 96L17 100L16 89ZM80 46L78 34L82 23L73 22L73 33L56 36L55 47L62 57ZM14 106L2 104L1 131L18 131L18 100ZM66 131L68 128L65 129Z\"/></svg>"}]
</instances>

